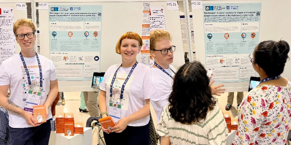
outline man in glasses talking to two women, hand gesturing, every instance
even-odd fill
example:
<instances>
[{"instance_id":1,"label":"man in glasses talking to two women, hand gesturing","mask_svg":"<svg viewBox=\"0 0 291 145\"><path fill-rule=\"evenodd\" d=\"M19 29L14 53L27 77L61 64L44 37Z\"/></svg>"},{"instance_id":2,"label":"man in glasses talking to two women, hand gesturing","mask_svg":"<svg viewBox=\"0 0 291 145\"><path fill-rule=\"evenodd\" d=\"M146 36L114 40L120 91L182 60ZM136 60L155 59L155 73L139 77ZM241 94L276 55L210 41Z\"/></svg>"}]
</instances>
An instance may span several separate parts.
<instances>
[{"instance_id":1,"label":"man in glasses talking to two women, hand gesturing","mask_svg":"<svg viewBox=\"0 0 291 145\"><path fill-rule=\"evenodd\" d=\"M155 62L150 69L150 102L156 111L157 121L164 107L168 104L168 97L172 91L172 85L177 69L170 65L174 59L176 46L172 45L171 34L166 30L154 30L150 32L150 53ZM209 84L212 85L213 81ZM219 95L225 89L218 89L223 85L211 86L212 94ZM193 88L194 89L194 88ZM181 96L182 97L182 96Z\"/></svg>"}]
</instances>

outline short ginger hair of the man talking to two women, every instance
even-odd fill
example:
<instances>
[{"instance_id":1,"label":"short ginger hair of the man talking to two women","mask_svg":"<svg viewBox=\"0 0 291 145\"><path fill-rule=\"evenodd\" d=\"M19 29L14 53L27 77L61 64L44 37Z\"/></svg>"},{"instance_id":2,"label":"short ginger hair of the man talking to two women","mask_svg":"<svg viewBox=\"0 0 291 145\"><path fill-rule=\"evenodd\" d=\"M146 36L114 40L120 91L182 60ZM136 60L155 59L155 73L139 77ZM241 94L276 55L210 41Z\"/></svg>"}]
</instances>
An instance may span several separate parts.
<instances>
[{"instance_id":1,"label":"short ginger hair of the man talking to two women","mask_svg":"<svg viewBox=\"0 0 291 145\"><path fill-rule=\"evenodd\" d=\"M172 36L166 30L157 29L157 30L150 31L150 33L149 33L149 49L150 50L156 49L155 46L156 46L157 41L161 41L162 39L168 39L168 40L172 41Z\"/></svg>"}]
</instances>

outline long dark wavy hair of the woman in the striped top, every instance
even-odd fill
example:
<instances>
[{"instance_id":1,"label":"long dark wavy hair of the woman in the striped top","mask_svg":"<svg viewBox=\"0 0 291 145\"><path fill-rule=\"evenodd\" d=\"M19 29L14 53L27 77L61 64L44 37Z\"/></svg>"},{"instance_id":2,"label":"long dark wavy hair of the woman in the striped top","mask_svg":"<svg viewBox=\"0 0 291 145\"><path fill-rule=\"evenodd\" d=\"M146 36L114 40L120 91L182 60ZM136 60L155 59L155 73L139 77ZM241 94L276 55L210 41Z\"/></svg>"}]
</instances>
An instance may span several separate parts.
<instances>
[{"instance_id":1,"label":"long dark wavy hair of the woman in the striped top","mask_svg":"<svg viewBox=\"0 0 291 145\"><path fill-rule=\"evenodd\" d=\"M208 108L212 110L216 104L209 82L206 69L198 61L179 68L169 97L169 112L175 121L191 124L206 118Z\"/></svg>"}]
</instances>

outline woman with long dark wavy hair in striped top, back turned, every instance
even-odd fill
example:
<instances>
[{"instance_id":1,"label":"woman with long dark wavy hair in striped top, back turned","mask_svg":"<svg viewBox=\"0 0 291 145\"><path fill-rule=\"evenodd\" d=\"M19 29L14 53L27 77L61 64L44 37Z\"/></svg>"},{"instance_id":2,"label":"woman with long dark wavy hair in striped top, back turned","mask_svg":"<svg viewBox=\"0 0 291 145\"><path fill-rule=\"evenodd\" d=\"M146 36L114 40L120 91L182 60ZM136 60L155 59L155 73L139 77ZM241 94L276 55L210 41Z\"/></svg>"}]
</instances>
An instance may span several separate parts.
<instances>
[{"instance_id":1,"label":"woman with long dark wavy hair in striped top, back turned","mask_svg":"<svg viewBox=\"0 0 291 145\"><path fill-rule=\"evenodd\" d=\"M226 122L215 106L209 82L206 69L198 61L186 63L177 71L158 126L161 145L226 144Z\"/></svg>"}]
</instances>

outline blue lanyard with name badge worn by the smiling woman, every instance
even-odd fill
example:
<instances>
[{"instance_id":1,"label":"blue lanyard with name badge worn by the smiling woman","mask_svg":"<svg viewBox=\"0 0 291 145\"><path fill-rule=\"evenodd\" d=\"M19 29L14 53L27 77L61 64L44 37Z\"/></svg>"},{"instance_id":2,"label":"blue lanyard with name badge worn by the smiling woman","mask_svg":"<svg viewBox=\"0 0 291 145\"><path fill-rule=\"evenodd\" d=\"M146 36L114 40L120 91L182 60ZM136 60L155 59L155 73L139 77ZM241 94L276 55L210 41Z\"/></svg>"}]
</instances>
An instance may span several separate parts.
<instances>
[{"instance_id":1,"label":"blue lanyard with name badge worn by the smiling woman","mask_svg":"<svg viewBox=\"0 0 291 145\"><path fill-rule=\"evenodd\" d=\"M123 91L124 91L124 87L127 83L127 81L129 80L133 70L135 69L136 65L138 64L138 62L135 62L135 64L133 65L133 67L131 68L131 71L129 72L126 80L124 81L122 87L121 87L121 92L120 92L120 101L119 103L115 104L112 101L112 87L113 87L113 83L115 81L116 75L117 75L117 71L118 69L121 67L121 65L117 68L117 70L114 73L113 79L111 81L110 84L110 101L109 101L109 116L112 117L112 119L114 120L114 122L118 122L119 119L121 118L121 101L123 100Z\"/></svg>"}]
</instances>

